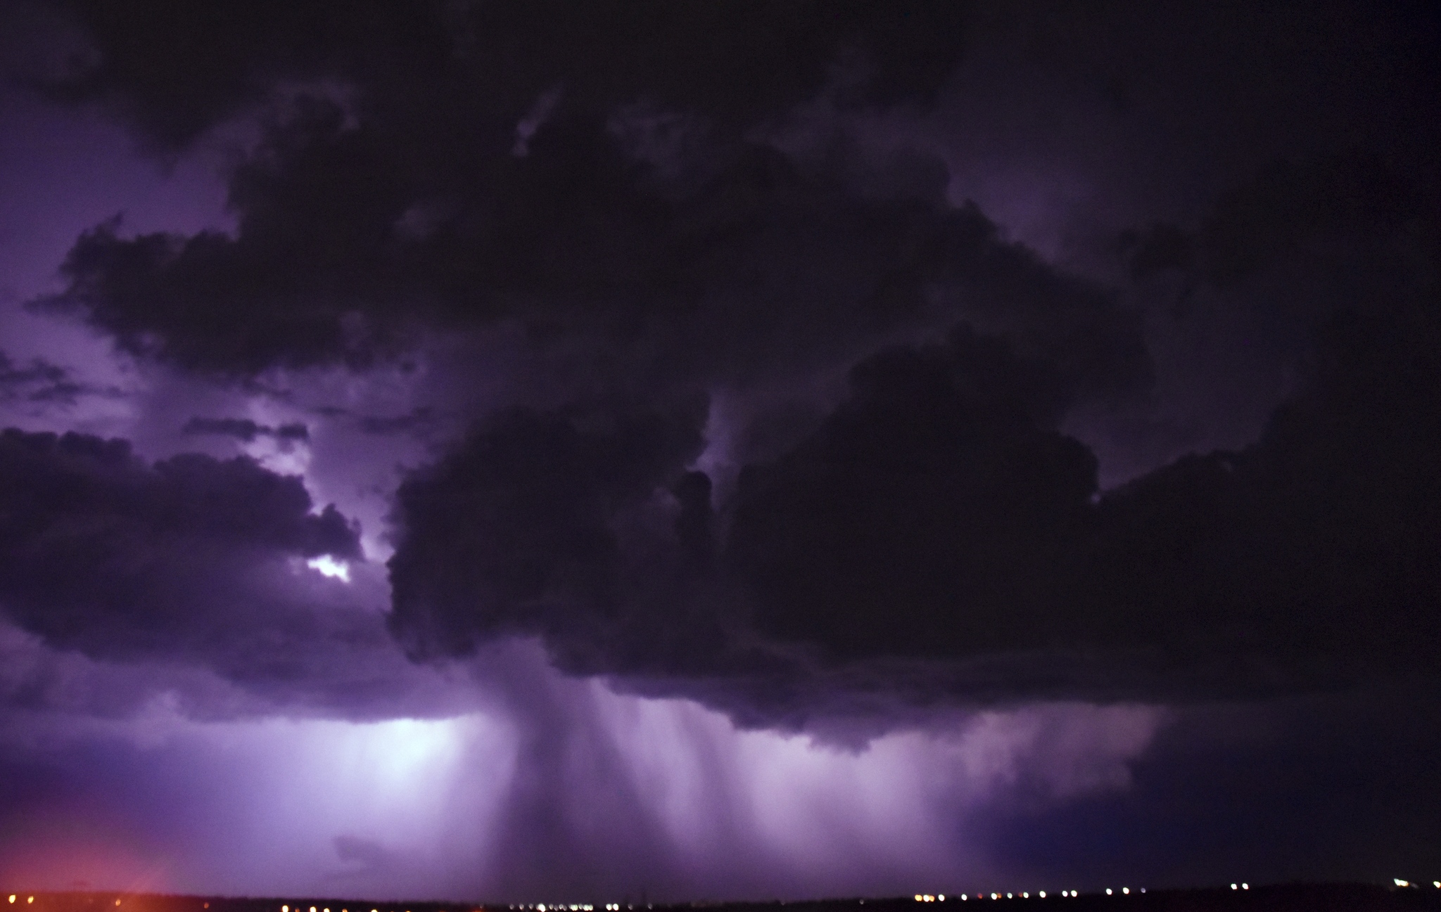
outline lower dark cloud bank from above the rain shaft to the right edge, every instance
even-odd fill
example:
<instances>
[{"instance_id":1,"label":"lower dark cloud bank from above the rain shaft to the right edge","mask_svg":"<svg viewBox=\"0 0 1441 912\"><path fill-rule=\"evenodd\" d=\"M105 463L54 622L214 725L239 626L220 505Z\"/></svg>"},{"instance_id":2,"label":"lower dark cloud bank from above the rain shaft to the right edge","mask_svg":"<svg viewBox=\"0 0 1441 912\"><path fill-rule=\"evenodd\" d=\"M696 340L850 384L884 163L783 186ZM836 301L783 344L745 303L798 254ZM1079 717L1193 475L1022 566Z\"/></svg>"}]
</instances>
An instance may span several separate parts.
<instances>
[{"instance_id":1,"label":"lower dark cloud bank from above the rain shaft to the right edge","mask_svg":"<svg viewBox=\"0 0 1441 912\"><path fill-rule=\"evenodd\" d=\"M862 362L723 522L693 448L510 415L402 486L392 625L421 656L539 635L754 725L1425 680L1438 343L1434 287L1339 314L1261 441L1104 497L1055 366L964 327Z\"/></svg>"}]
</instances>

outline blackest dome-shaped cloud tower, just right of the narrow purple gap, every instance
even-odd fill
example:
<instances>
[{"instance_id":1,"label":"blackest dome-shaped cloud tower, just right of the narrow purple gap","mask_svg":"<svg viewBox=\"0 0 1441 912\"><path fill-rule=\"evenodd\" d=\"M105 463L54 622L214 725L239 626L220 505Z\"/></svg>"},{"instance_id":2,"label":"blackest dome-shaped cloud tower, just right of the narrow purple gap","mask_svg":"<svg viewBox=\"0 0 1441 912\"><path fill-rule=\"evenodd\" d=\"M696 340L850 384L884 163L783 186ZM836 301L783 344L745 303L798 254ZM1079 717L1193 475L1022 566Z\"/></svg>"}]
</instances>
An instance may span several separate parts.
<instances>
[{"instance_id":1,"label":"blackest dome-shaped cloud tower, just right of the narrow purple gap","mask_svg":"<svg viewBox=\"0 0 1441 912\"><path fill-rule=\"evenodd\" d=\"M1049 429L1058 386L968 330L857 366L814 435L741 474L728 559L757 627L840 657L1045 643L1097 490L1095 458Z\"/></svg>"}]
</instances>

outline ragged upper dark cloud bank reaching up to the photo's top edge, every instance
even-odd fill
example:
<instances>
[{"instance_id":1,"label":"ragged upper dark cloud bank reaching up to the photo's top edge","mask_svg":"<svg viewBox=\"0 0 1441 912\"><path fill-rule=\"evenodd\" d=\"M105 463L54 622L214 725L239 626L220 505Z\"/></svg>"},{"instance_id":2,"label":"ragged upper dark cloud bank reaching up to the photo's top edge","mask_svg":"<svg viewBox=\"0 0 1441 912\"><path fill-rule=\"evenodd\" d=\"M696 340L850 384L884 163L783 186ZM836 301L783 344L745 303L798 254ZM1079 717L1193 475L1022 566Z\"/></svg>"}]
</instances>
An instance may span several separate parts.
<instances>
[{"instance_id":1,"label":"ragged upper dark cloud bank reaching up to the photo's top edge","mask_svg":"<svg viewBox=\"0 0 1441 912\"><path fill-rule=\"evenodd\" d=\"M1087 336L1098 389L1144 382L1134 321L950 207L941 163L901 156L857 187L745 138L827 85L843 107L924 102L961 4L76 9L102 62L71 89L161 135L285 73L354 92L297 89L267 114L231 176L233 238L81 238L43 304L128 352L206 373L363 366L418 330L519 320L594 349L588 385L646 388L852 359L941 310ZM150 53L154 29L187 50Z\"/></svg>"}]
</instances>

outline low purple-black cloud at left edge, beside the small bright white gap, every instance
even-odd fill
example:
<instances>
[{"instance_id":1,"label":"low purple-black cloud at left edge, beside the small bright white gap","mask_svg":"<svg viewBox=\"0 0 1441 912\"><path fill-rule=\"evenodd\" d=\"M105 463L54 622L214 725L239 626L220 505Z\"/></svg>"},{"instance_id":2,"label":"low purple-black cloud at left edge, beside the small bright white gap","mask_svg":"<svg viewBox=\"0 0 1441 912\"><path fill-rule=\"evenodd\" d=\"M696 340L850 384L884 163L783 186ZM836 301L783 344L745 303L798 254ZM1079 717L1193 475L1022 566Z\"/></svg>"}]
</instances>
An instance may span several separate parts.
<instances>
[{"instance_id":1,"label":"low purple-black cloud at left edge, beside the small bright white gap","mask_svg":"<svg viewBox=\"0 0 1441 912\"><path fill-rule=\"evenodd\" d=\"M245 458L151 465L125 441L14 428L0 464L0 607L53 647L300 680L307 650L365 627L331 630L334 598L288 563L360 558L353 524L334 506L311 513L298 478Z\"/></svg>"}]
</instances>

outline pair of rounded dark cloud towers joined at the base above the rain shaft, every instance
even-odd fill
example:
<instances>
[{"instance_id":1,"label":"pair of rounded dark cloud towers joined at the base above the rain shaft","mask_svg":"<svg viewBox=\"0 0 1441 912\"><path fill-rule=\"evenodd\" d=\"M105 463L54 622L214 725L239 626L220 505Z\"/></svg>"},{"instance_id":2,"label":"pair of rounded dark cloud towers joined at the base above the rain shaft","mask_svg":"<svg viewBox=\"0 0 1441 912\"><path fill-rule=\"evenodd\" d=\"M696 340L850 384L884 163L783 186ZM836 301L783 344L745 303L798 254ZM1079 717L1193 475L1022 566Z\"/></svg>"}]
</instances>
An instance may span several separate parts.
<instances>
[{"instance_id":1,"label":"pair of rounded dark cloud towers joined at the base above the rain shaft","mask_svg":"<svg viewBox=\"0 0 1441 912\"><path fill-rule=\"evenodd\" d=\"M501 413L402 484L392 630L416 657L540 637L568 671L746 725L853 719L826 729L846 742L906 703L1144 689L1036 667L1075 653L1056 605L1095 523L1095 460L1053 429L1078 388L968 327L888 350L719 511L686 471L696 421Z\"/></svg>"}]
</instances>

